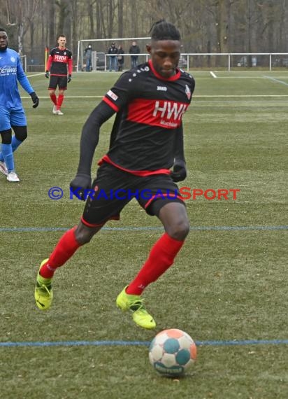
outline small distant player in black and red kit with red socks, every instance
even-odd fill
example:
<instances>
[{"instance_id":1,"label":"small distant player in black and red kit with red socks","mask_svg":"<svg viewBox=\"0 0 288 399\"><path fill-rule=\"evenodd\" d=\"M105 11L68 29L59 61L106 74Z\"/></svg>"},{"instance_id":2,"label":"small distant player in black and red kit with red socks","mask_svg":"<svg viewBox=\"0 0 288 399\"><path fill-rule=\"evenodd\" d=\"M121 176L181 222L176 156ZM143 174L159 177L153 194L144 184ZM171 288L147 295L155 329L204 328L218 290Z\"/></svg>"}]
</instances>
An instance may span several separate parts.
<instances>
[{"instance_id":1,"label":"small distant player in black and red kit with red socks","mask_svg":"<svg viewBox=\"0 0 288 399\"><path fill-rule=\"evenodd\" d=\"M45 76L49 78L50 72L48 90L50 99L54 104L52 112L55 115L63 115L61 106L64 100L64 91L67 89L67 83L71 82L72 77L72 52L66 48L66 37L63 34L58 36L57 43L59 46L52 48L50 51ZM58 99L55 94L57 86L59 88Z\"/></svg>"}]
</instances>

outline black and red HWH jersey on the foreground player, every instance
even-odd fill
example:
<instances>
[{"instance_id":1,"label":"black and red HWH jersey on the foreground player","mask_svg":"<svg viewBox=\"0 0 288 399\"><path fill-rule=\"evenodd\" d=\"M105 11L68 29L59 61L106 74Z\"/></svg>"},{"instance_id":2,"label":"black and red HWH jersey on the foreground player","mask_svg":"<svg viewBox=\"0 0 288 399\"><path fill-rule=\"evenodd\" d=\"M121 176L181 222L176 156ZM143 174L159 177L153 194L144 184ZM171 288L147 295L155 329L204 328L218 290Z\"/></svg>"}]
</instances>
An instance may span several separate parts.
<instances>
[{"instance_id":1,"label":"black and red HWH jersey on the foreground player","mask_svg":"<svg viewBox=\"0 0 288 399\"><path fill-rule=\"evenodd\" d=\"M151 60L124 72L103 97L117 116L102 161L140 175L168 173L194 86L194 78L180 69L163 78Z\"/></svg>"}]
</instances>

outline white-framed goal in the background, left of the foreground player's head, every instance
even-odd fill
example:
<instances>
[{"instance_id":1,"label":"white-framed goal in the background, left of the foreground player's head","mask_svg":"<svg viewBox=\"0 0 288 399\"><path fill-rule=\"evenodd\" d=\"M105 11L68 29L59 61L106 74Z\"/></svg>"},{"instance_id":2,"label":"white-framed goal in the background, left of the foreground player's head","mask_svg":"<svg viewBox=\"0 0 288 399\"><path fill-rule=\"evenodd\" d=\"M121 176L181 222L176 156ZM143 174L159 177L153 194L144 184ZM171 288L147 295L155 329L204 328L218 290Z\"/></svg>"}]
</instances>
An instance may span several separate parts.
<instances>
[{"instance_id":1,"label":"white-framed goal in the background, left of the foreground player's head","mask_svg":"<svg viewBox=\"0 0 288 399\"><path fill-rule=\"evenodd\" d=\"M90 38L81 39L78 41L78 51L77 51L77 66L76 71L85 71L85 48L88 44L92 45L92 70L103 70L106 71L109 65L109 55L108 48L111 43L115 43L116 48L122 45L124 50L124 68L129 69L131 66L129 54L129 48L133 41L136 41L140 48L140 53L138 54L138 63L147 61L148 54L146 52L146 44L150 43L150 37L125 37L125 38Z\"/></svg>"}]
</instances>

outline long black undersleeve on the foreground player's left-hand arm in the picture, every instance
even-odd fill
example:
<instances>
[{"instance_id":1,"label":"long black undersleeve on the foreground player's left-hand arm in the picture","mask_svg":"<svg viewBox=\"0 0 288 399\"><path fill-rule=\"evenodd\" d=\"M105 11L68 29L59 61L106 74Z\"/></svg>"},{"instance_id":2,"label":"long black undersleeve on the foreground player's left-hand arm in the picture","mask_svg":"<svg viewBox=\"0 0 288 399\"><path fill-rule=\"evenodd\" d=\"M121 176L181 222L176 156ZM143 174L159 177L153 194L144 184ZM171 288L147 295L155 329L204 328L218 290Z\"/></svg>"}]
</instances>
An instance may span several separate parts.
<instances>
[{"instance_id":1,"label":"long black undersleeve on the foreground player's left-hand arm in the picture","mask_svg":"<svg viewBox=\"0 0 288 399\"><path fill-rule=\"evenodd\" d=\"M91 174L91 165L95 148L99 141L100 127L106 120L111 118L114 113L115 111L102 101L90 114L82 128L80 160L77 173Z\"/></svg>"}]
</instances>

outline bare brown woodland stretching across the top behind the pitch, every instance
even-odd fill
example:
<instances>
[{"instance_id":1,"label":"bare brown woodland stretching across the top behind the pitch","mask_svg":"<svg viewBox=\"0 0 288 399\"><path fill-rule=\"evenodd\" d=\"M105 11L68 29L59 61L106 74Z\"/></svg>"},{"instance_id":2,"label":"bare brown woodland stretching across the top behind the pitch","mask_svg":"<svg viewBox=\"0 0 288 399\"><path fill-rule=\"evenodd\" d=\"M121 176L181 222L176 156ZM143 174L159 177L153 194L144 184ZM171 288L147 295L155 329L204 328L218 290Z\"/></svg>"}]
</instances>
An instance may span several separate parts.
<instances>
[{"instance_id":1,"label":"bare brown woodland stretching across the top behind the pitch","mask_svg":"<svg viewBox=\"0 0 288 399\"><path fill-rule=\"evenodd\" d=\"M67 36L74 52L79 38L148 36L161 18L180 29L182 52L285 52L288 46L287 0L0 0L0 7L10 43L35 59L56 45L57 34ZM192 65L200 61L193 57Z\"/></svg>"}]
</instances>

